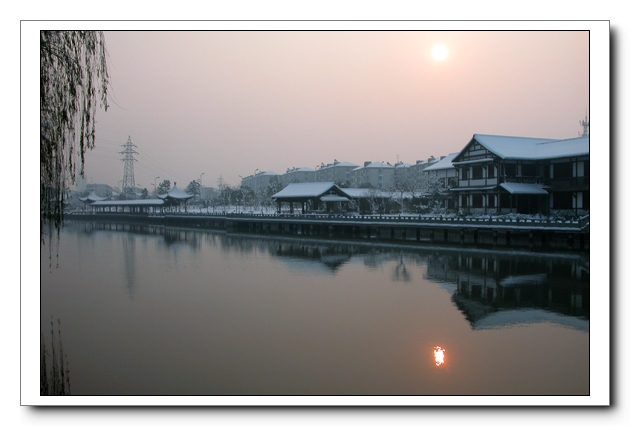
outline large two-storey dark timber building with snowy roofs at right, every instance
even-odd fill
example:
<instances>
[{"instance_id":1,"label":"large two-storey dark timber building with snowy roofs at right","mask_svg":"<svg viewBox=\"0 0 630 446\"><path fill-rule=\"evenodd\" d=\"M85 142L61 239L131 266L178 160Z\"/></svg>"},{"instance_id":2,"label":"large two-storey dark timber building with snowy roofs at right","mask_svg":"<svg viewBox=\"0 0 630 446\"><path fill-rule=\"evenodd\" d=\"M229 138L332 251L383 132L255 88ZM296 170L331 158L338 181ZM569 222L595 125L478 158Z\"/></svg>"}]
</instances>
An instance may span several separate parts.
<instances>
[{"instance_id":1,"label":"large two-storey dark timber building with snowy roofs at right","mask_svg":"<svg viewBox=\"0 0 630 446\"><path fill-rule=\"evenodd\" d=\"M452 159L457 206L471 213L588 213L589 137L475 134Z\"/></svg>"}]
</instances>

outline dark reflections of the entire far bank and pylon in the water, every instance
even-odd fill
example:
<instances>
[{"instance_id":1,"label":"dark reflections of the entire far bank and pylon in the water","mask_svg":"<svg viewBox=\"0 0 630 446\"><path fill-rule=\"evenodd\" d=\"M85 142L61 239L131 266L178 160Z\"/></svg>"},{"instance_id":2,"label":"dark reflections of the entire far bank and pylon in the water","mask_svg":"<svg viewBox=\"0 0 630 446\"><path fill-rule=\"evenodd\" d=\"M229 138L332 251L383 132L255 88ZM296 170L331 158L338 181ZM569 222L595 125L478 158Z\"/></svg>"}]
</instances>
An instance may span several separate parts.
<instances>
[{"instance_id":1,"label":"dark reflections of the entire far bank and pylon in the water","mask_svg":"<svg viewBox=\"0 0 630 446\"><path fill-rule=\"evenodd\" d=\"M160 236L168 248L204 244L226 253L257 252L282 260L304 274L335 274L352 261L366 269L392 267L391 280L412 282L411 266L426 264L425 279L440 283L453 304L477 330L548 321L588 331L588 261L570 256L529 256L473 251L390 249L361 244L303 242L265 236L226 235L122 223L74 223L90 236L98 230ZM133 292L135 247L124 246L128 288ZM187 254L189 251L187 251Z\"/></svg>"}]
</instances>

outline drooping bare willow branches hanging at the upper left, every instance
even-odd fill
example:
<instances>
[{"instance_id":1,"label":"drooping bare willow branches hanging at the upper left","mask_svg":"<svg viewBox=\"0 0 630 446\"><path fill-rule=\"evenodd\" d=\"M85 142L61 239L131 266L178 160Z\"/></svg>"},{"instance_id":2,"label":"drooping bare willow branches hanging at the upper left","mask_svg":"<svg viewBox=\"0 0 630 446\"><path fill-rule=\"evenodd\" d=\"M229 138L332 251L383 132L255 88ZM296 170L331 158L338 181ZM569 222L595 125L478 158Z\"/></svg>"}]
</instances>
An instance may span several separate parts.
<instances>
[{"instance_id":1,"label":"drooping bare willow branches hanging at the upper left","mask_svg":"<svg viewBox=\"0 0 630 446\"><path fill-rule=\"evenodd\" d=\"M107 110L107 51L101 31L40 33L40 232L63 225L67 193L94 147L95 114Z\"/></svg>"}]
</instances>

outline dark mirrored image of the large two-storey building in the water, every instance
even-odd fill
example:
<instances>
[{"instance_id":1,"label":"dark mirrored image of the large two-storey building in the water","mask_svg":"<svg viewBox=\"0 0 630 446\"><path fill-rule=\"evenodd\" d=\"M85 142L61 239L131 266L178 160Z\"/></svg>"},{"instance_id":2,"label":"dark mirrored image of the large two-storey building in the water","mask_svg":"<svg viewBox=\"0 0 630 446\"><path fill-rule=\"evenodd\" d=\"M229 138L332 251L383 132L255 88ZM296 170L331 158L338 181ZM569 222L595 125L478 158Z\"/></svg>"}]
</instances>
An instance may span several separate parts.
<instances>
[{"instance_id":1,"label":"dark mirrored image of the large two-storey building in the water","mask_svg":"<svg viewBox=\"0 0 630 446\"><path fill-rule=\"evenodd\" d=\"M450 285L475 329L548 321L588 330L590 278L576 258L436 254L427 279Z\"/></svg>"}]
</instances>

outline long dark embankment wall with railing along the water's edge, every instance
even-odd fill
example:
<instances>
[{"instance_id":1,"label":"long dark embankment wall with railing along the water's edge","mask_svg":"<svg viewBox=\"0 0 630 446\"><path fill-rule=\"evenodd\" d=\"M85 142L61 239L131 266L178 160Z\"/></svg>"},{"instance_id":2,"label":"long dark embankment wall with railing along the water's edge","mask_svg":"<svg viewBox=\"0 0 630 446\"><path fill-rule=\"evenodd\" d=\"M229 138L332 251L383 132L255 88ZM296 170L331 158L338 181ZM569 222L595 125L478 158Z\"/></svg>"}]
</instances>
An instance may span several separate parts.
<instances>
[{"instance_id":1,"label":"long dark embankment wall with railing along the water's edge","mask_svg":"<svg viewBox=\"0 0 630 446\"><path fill-rule=\"evenodd\" d=\"M328 239L357 239L401 244L461 246L588 253L588 218L551 221L528 218L422 217L294 214L67 214L69 220L150 224Z\"/></svg>"}]
</instances>

